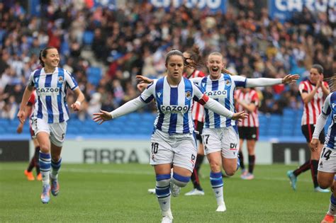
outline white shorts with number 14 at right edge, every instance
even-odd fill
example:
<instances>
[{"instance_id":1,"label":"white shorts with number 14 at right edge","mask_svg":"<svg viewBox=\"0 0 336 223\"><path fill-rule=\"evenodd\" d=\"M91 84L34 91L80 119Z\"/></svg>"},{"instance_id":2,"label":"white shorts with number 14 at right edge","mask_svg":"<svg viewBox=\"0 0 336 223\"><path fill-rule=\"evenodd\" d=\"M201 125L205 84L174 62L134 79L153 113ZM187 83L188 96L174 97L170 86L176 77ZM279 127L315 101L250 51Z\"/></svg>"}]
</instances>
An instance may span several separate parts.
<instances>
[{"instance_id":1,"label":"white shorts with number 14 at right edge","mask_svg":"<svg viewBox=\"0 0 336 223\"><path fill-rule=\"evenodd\" d=\"M318 171L326 173L336 173L336 151L323 147L320 161L318 162Z\"/></svg>"}]
</instances>

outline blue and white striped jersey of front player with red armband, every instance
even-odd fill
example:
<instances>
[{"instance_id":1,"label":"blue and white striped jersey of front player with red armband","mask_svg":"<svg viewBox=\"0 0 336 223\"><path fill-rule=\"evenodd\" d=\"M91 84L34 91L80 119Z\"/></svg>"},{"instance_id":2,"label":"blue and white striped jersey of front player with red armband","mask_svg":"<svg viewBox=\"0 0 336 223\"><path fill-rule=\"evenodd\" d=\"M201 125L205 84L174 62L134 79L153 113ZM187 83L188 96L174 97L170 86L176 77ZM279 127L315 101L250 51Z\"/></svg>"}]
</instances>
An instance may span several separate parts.
<instances>
[{"instance_id":1,"label":"blue and white striped jersey of front player with red armband","mask_svg":"<svg viewBox=\"0 0 336 223\"><path fill-rule=\"evenodd\" d=\"M155 99L157 104L155 128L169 134L194 132L192 105L194 101L201 104L208 101L208 97L189 79L182 78L179 86L171 87L166 76L147 86L140 98L145 103Z\"/></svg>"}]
</instances>

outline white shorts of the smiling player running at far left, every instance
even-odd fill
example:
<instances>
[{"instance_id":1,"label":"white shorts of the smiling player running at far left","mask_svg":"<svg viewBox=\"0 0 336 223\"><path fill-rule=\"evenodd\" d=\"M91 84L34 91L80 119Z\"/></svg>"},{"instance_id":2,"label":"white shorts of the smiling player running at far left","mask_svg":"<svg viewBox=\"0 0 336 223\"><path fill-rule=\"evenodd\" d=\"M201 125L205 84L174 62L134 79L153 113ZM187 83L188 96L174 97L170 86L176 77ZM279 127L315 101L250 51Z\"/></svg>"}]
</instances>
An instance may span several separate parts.
<instances>
[{"instance_id":1,"label":"white shorts of the smiling player running at far left","mask_svg":"<svg viewBox=\"0 0 336 223\"><path fill-rule=\"evenodd\" d=\"M47 132L50 135L50 142L57 147L62 147L65 141L65 132L67 132L67 122L47 123L40 118L31 118L31 127L35 132Z\"/></svg>"}]
</instances>

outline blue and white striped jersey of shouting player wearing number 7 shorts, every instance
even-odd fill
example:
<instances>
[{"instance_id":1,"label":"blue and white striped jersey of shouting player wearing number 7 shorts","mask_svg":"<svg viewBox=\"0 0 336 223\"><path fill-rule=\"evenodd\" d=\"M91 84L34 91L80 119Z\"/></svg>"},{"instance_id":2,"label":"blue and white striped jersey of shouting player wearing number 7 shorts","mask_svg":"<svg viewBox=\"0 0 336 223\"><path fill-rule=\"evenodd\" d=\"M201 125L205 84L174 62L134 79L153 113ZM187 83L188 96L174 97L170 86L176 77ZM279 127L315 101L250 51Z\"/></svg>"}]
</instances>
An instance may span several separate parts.
<instances>
[{"instance_id":1,"label":"blue and white striped jersey of shouting player wearing number 7 shorts","mask_svg":"<svg viewBox=\"0 0 336 223\"><path fill-rule=\"evenodd\" d=\"M235 88L246 87L246 78L243 76L231 76L229 74L221 74L220 79L211 80L210 76L203 77L201 79L192 79L198 83L202 91L206 92L209 98L213 98L218 101L225 108L235 113ZM235 120L220 116L213 111L205 108L205 122L206 128L220 128L236 125Z\"/></svg>"}]
</instances>

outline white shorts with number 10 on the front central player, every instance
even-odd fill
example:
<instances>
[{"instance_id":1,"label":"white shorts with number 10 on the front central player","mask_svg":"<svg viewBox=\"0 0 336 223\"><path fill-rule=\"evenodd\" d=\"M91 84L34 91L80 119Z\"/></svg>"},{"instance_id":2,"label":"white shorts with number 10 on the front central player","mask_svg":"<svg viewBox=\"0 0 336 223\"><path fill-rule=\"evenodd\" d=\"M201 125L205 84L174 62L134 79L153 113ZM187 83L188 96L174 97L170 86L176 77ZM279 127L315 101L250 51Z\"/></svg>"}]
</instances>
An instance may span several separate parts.
<instances>
[{"instance_id":1,"label":"white shorts with number 10 on the front central player","mask_svg":"<svg viewBox=\"0 0 336 223\"><path fill-rule=\"evenodd\" d=\"M191 172L194 170L197 156L196 135L191 133L169 135L155 130L150 142L151 165L174 164Z\"/></svg>"}]
</instances>

